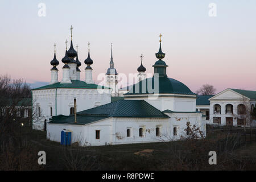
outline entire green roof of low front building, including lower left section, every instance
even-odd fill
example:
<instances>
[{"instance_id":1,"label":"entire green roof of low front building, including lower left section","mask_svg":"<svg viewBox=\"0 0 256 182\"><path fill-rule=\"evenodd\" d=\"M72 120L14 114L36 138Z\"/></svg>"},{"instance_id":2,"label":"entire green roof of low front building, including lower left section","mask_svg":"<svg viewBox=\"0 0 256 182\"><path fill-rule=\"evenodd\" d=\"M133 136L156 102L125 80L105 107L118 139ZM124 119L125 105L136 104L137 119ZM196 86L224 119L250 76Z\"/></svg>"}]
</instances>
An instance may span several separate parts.
<instances>
[{"instance_id":1,"label":"entire green roof of low front building, including lower left section","mask_svg":"<svg viewBox=\"0 0 256 182\"><path fill-rule=\"evenodd\" d=\"M73 125L85 125L110 117L134 117L134 118L169 118L154 106L143 100L119 100L102 106L94 107L77 113L77 122L74 115L53 116L49 123L67 123Z\"/></svg>"}]
</instances>

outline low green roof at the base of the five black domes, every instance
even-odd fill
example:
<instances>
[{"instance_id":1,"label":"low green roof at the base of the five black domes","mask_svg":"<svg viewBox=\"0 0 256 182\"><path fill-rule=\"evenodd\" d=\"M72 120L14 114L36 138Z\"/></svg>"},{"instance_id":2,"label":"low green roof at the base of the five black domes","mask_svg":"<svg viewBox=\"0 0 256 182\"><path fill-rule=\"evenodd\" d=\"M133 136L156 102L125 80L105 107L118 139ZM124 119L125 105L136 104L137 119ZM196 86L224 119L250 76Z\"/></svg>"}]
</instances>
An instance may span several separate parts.
<instances>
[{"instance_id":1,"label":"low green roof at the base of the five black domes","mask_svg":"<svg viewBox=\"0 0 256 182\"><path fill-rule=\"evenodd\" d=\"M83 89L97 89L99 85L96 84L86 84L84 81L80 80L71 80L71 84L61 84L57 82L55 84L41 86L32 90L40 90L40 89L53 89L53 88L83 88ZM101 89L110 89L108 87L100 86Z\"/></svg>"}]
</instances>

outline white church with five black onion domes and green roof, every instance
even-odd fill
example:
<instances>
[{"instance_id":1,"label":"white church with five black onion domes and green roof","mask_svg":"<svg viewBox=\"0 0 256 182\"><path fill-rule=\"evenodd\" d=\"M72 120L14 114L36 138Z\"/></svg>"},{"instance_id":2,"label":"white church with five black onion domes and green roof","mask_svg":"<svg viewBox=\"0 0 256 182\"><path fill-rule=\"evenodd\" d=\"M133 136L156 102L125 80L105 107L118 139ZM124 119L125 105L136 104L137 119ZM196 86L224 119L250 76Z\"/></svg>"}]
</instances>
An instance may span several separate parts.
<instances>
[{"instance_id":1,"label":"white church with five black onion domes and green roof","mask_svg":"<svg viewBox=\"0 0 256 182\"><path fill-rule=\"evenodd\" d=\"M63 78L58 79L59 61L56 59L56 49L54 52L51 65L51 82L49 85L42 86L32 90L32 128L36 130L46 130L47 122L53 115L69 115L74 114L76 99L76 110L82 111L92 107L108 104L111 102L111 94L109 88L94 84L92 80L93 60L90 58L90 49L88 57L84 63L85 80L80 80L81 63L79 61L77 51L73 48L72 27L71 27L71 46L67 50L66 40L65 56L62 59ZM88 44L89 45L89 44ZM56 45L55 45L56 47ZM76 60L75 60L76 57ZM98 89L104 90L99 93Z\"/></svg>"}]
</instances>

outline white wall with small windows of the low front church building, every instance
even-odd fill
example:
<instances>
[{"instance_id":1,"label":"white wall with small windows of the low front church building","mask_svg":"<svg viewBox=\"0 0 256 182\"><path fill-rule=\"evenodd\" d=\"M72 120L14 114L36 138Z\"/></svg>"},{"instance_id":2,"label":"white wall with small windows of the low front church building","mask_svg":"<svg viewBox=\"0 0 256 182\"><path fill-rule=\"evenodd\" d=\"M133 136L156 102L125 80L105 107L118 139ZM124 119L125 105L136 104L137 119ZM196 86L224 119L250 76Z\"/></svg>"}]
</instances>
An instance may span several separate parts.
<instances>
[{"instance_id":1,"label":"white wall with small windows of the low front church building","mask_svg":"<svg viewBox=\"0 0 256 182\"><path fill-rule=\"evenodd\" d=\"M102 146L105 144L128 144L161 142L185 137L187 122L191 127L196 125L206 136L205 119L200 113L168 114L171 118L106 118L88 125L47 125L47 139L60 142L63 129L72 131L72 142L79 142L84 146ZM156 136L156 127L160 129L160 136ZM174 127L177 135L174 136ZM143 137L139 137L139 128L143 128ZM127 137L130 129L130 137ZM96 130L100 130L100 139L96 139Z\"/></svg>"}]
</instances>

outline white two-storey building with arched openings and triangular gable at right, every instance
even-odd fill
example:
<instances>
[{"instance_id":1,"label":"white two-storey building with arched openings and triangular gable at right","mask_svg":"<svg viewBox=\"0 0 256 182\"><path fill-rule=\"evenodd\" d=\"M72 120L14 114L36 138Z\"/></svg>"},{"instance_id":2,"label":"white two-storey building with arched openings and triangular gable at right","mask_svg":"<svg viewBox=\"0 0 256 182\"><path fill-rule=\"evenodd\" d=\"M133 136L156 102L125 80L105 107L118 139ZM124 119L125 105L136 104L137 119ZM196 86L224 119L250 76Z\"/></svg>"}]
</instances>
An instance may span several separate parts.
<instances>
[{"instance_id":1,"label":"white two-storey building with arched openings and triangular gable at right","mask_svg":"<svg viewBox=\"0 0 256 182\"><path fill-rule=\"evenodd\" d=\"M244 126L251 122L250 111L256 105L256 91L225 89L209 101L209 123Z\"/></svg>"}]
</instances>

